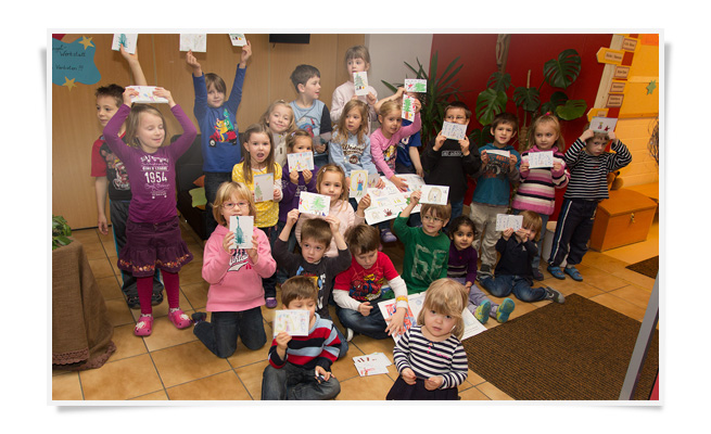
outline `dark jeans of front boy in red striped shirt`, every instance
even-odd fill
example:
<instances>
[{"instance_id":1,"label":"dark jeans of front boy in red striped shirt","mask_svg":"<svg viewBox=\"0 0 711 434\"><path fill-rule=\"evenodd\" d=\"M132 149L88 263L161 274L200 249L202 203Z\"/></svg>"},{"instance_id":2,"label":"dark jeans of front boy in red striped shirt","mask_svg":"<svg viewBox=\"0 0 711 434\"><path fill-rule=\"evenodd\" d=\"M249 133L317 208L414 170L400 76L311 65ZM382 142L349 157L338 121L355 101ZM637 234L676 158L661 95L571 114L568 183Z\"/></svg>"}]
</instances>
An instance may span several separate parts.
<instances>
[{"instance_id":1,"label":"dark jeans of front boy in red striped shirt","mask_svg":"<svg viewBox=\"0 0 711 434\"><path fill-rule=\"evenodd\" d=\"M329 381L316 380L316 372L287 362L277 369L267 365L262 375L262 400L320 400L332 399L341 393L341 383L331 376Z\"/></svg>"}]
</instances>

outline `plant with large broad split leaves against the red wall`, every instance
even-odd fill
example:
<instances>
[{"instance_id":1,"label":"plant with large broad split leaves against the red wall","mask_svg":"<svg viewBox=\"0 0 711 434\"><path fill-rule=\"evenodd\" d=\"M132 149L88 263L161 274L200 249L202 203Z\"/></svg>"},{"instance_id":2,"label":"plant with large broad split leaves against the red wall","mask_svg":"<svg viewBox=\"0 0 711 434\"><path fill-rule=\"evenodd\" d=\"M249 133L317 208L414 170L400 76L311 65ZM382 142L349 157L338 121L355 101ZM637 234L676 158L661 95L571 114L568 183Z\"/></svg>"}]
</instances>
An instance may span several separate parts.
<instances>
[{"instance_id":1,"label":"plant with large broad split leaves against the red wall","mask_svg":"<svg viewBox=\"0 0 711 434\"><path fill-rule=\"evenodd\" d=\"M549 101L541 101L541 89L545 84L564 90L577 79L580 72L580 54L573 49L567 49L561 51L556 59L551 59L543 65L544 78L538 87L531 87L530 82L526 82L526 86L513 88L511 94L513 103L517 110L523 112L523 120L520 123L518 131L519 142L525 144L525 130L531 120L539 113L555 113L556 116L563 120L576 119L585 114L587 110L585 100L571 100L562 90L555 91ZM507 92L511 87L511 75L497 71L488 78L486 89L479 93L475 115L483 127L481 131L475 130L470 136L474 137L478 145L485 144L485 142L478 140L485 137L488 131L486 126L492 123L494 116L506 111L506 104L509 100Z\"/></svg>"}]
</instances>

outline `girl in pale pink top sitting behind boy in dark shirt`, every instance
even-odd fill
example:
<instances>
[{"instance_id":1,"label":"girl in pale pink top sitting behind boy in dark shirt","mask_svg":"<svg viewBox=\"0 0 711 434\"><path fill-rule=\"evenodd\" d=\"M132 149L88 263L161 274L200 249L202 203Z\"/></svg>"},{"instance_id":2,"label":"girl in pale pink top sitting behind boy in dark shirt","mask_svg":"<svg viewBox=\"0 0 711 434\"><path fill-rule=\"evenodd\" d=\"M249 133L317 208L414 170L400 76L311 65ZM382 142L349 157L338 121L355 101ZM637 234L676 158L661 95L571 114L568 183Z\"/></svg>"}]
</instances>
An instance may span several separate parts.
<instances>
[{"instance_id":1,"label":"girl in pale pink top sitting behind boy in dark shirt","mask_svg":"<svg viewBox=\"0 0 711 434\"><path fill-rule=\"evenodd\" d=\"M343 235L350 227L366 221L365 209L369 206L370 201L369 199L367 200L367 197L364 197L360 200L360 203L358 203L358 210L353 210L353 206L348 202L348 189L345 183L345 173L340 166L329 163L321 167L316 175L316 190L318 191L318 194L323 194L329 197L328 216L333 216L340 220L339 231L341 235ZM313 218L322 217L313 214L302 214L299 217L299 222L296 224L294 232L296 233L296 241L302 246L304 245L302 242L302 226L306 220ZM333 239L333 241L335 241L335 239ZM326 251L326 256L338 256L339 252L335 243L330 244L331 246Z\"/></svg>"}]
</instances>

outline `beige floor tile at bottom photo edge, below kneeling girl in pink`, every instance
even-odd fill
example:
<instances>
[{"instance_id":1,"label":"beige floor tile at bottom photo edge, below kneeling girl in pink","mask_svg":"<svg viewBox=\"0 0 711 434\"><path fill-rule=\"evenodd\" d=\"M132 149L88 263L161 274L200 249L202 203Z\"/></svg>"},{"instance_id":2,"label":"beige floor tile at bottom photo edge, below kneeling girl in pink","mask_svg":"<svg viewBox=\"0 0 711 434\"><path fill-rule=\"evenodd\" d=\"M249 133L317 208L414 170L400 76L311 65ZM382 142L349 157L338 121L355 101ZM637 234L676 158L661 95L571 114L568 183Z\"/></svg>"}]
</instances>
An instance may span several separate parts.
<instances>
[{"instance_id":1,"label":"beige floor tile at bottom photo edge, below kneeling girl in pink","mask_svg":"<svg viewBox=\"0 0 711 434\"><path fill-rule=\"evenodd\" d=\"M251 400L244 385L230 370L166 390L170 400Z\"/></svg>"}]
</instances>

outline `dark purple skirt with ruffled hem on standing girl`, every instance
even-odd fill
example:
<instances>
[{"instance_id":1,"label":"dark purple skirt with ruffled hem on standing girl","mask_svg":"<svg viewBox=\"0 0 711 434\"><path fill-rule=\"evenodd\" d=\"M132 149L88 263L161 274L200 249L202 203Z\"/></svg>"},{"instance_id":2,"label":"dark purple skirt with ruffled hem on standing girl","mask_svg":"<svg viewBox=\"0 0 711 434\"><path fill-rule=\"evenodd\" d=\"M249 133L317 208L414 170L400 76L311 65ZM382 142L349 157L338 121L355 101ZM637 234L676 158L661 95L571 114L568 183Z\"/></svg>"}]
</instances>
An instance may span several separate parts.
<instances>
[{"instance_id":1,"label":"dark purple skirt with ruffled hem on standing girl","mask_svg":"<svg viewBox=\"0 0 711 434\"><path fill-rule=\"evenodd\" d=\"M161 224L128 220L126 245L118 254L118 268L137 278L153 276L155 268L178 272L192 260L192 253L180 235L178 216Z\"/></svg>"}]
</instances>

